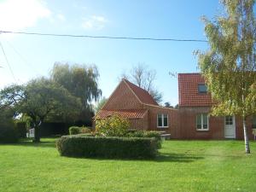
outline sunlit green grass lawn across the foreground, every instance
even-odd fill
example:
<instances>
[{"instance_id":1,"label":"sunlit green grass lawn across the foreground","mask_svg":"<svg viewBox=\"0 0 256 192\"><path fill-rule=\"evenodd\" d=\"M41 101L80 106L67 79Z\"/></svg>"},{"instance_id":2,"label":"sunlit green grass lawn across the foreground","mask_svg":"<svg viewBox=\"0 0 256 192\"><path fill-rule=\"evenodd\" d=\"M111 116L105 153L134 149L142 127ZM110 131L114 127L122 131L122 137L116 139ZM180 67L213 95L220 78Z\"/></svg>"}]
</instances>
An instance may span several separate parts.
<instances>
[{"instance_id":1,"label":"sunlit green grass lawn across the foreground","mask_svg":"<svg viewBox=\"0 0 256 192\"><path fill-rule=\"evenodd\" d=\"M256 143L166 141L156 160L61 157L54 138L0 145L0 191L256 191ZM129 152L127 152L129 153Z\"/></svg>"}]
</instances>

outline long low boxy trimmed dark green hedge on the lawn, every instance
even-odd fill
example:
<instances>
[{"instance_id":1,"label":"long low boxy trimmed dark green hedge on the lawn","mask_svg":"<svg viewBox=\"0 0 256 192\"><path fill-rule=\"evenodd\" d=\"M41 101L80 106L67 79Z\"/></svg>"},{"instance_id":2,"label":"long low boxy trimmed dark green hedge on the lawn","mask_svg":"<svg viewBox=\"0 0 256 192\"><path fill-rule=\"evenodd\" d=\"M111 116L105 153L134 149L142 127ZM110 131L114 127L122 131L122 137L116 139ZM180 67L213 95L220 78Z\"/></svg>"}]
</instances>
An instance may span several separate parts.
<instances>
[{"instance_id":1,"label":"long low boxy trimmed dark green hedge on the lawn","mask_svg":"<svg viewBox=\"0 0 256 192\"><path fill-rule=\"evenodd\" d=\"M155 138L62 136L56 147L72 157L148 159L157 154Z\"/></svg>"}]
</instances>

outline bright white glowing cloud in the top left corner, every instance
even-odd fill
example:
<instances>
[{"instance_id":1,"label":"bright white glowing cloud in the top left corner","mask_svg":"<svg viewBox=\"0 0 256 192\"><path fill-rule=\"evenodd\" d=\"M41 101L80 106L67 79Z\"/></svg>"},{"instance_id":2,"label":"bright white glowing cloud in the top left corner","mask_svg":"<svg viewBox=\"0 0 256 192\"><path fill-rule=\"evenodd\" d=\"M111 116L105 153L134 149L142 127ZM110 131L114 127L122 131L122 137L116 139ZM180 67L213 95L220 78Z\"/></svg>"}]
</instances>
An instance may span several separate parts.
<instances>
[{"instance_id":1,"label":"bright white glowing cloud in the top left corner","mask_svg":"<svg viewBox=\"0 0 256 192\"><path fill-rule=\"evenodd\" d=\"M0 3L1 30L19 31L50 15L50 10L39 0L6 0Z\"/></svg>"}]
</instances>

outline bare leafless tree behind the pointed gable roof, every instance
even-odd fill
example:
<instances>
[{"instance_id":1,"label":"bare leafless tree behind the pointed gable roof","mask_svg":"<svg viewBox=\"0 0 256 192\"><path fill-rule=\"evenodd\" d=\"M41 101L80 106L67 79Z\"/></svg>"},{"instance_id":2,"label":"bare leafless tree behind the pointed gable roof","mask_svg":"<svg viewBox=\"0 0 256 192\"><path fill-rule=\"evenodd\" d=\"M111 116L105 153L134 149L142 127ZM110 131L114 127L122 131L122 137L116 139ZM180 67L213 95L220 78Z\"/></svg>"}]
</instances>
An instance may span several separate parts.
<instances>
[{"instance_id":1,"label":"bare leafless tree behind the pointed gable roof","mask_svg":"<svg viewBox=\"0 0 256 192\"><path fill-rule=\"evenodd\" d=\"M154 87L155 70L150 70L143 63L138 63L137 66L131 68L130 75L123 73L121 78L129 79L132 83L147 90L155 102L162 102L162 94Z\"/></svg>"}]
</instances>

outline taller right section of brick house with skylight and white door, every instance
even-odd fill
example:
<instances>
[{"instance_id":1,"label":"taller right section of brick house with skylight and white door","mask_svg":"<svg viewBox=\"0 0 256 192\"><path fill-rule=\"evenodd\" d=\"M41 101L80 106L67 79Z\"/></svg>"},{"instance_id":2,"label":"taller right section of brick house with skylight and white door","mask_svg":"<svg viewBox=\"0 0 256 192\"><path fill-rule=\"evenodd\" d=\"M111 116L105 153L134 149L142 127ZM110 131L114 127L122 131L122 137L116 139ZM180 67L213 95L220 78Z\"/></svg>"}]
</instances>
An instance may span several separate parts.
<instances>
[{"instance_id":1,"label":"taller right section of brick house with skylight and white door","mask_svg":"<svg viewBox=\"0 0 256 192\"><path fill-rule=\"evenodd\" d=\"M205 80L200 73L178 74L178 104L180 115L179 135L189 139L243 139L241 117L210 116L212 107L211 95L207 92ZM250 139L253 139L252 128L256 117L247 119Z\"/></svg>"}]
</instances>

